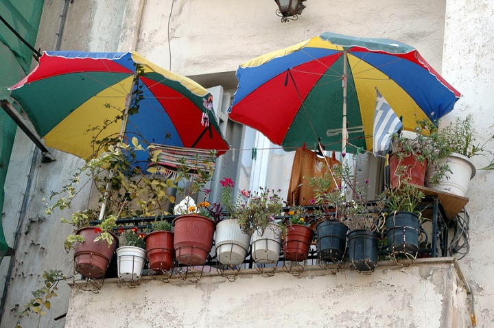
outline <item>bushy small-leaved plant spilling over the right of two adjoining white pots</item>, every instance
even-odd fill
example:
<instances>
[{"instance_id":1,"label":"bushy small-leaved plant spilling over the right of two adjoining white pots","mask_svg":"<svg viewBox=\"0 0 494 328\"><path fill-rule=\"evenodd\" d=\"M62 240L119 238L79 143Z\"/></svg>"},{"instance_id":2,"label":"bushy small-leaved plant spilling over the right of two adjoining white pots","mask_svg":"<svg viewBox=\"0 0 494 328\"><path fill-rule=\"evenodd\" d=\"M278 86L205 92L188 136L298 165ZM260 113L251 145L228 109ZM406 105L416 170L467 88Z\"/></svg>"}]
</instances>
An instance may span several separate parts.
<instances>
[{"instance_id":1,"label":"bushy small-leaved plant spilling over the right of two adjoining white pots","mask_svg":"<svg viewBox=\"0 0 494 328\"><path fill-rule=\"evenodd\" d=\"M274 222L283 210L283 200L277 191L259 187L259 191L242 191L231 218L239 220L243 233L252 235L257 231L260 235Z\"/></svg>"}]
</instances>

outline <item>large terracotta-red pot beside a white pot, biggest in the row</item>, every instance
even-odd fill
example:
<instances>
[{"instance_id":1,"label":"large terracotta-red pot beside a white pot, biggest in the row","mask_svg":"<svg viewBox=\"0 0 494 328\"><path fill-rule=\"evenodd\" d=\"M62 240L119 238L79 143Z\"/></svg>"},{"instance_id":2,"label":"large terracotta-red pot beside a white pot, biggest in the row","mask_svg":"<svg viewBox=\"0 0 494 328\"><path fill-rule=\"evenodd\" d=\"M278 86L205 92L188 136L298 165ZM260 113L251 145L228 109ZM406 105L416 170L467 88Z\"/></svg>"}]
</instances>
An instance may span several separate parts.
<instances>
[{"instance_id":1,"label":"large terracotta-red pot beside a white pot, biggest in the row","mask_svg":"<svg viewBox=\"0 0 494 328\"><path fill-rule=\"evenodd\" d=\"M180 215L174 221L176 260L186 266L202 266L213 247L215 223L200 215Z\"/></svg>"}]
</instances>

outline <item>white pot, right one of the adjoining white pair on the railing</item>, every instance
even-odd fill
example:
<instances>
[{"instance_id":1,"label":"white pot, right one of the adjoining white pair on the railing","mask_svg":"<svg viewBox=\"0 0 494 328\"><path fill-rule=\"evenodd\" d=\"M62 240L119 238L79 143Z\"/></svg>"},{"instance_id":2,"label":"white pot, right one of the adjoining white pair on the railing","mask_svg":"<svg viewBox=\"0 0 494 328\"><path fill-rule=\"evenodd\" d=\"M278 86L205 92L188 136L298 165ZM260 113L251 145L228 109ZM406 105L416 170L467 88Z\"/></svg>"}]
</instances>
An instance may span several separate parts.
<instances>
[{"instance_id":1,"label":"white pot, right one of the adjoining white pair on the railing","mask_svg":"<svg viewBox=\"0 0 494 328\"><path fill-rule=\"evenodd\" d=\"M278 224L270 224L262 235L255 231L252 235L252 260L261 264L277 263L281 245L281 229Z\"/></svg>"}]
</instances>

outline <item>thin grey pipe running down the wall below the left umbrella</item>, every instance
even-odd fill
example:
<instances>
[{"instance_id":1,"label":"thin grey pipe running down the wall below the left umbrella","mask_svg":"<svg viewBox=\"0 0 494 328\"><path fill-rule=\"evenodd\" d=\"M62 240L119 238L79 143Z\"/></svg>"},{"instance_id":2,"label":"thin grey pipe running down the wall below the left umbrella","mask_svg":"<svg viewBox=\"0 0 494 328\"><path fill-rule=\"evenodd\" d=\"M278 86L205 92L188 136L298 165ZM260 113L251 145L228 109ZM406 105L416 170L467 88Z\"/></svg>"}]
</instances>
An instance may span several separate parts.
<instances>
[{"instance_id":1,"label":"thin grey pipe running down the wall below the left umbrella","mask_svg":"<svg viewBox=\"0 0 494 328\"><path fill-rule=\"evenodd\" d=\"M19 239L21 237L21 230L26 214L26 208L27 208L27 201L29 199L29 194L31 190L31 185L32 185L32 180L33 180L33 174L34 174L34 169L36 168L36 161L38 159L38 148L34 148L34 154L32 156L32 161L31 161L31 168L30 168L30 173L29 176L27 176L27 185L26 189L24 191L24 196L23 196L23 203L21 207L21 212L19 213L19 223L17 224L17 231L15 235L15 240L14 240L14 254L10 257L10 264L8 268L8 273L7 277L5 278L5 285L3 286L3 293L2 293L2 299L0 303L0 323L1 319L3 318L3 312L4 312L4 307L5 307L5 298L7 298L7 292L8 288L10 285L10 279L12 279L12 271L14 270L14 262L15 262L15 252L17 250L17 246L19 245Z\"/></svg>"}]
</instances>

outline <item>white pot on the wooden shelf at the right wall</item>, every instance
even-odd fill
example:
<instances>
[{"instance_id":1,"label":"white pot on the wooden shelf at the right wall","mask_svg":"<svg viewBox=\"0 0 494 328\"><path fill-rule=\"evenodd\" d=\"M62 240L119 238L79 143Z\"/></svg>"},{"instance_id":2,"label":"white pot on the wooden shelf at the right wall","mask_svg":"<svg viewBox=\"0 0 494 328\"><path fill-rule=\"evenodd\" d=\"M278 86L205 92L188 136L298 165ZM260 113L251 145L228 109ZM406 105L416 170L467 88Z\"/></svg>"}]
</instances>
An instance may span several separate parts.
<instances>
[{"instance_id":1,"label":"white pot on the wooden shelf at the right wall","mask_svg":"<svg viewBox=\"0 0 494 328\"><path fill-rule=\"evenodd\" d=\"M440 161L442 163L447 163L453 173L448 173L449 178L441 181L439 185L427 187L465 197L467 195L470 180L476 173L473 163L467 156L457 154L456 152L449 155L446 159L440 159ZM427 178L432 176L432 174L433 172L427 170Z\"/></svg>"}]
</instances>

